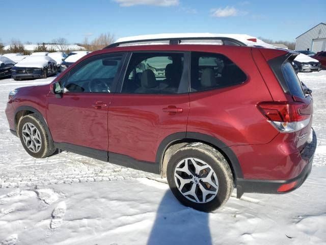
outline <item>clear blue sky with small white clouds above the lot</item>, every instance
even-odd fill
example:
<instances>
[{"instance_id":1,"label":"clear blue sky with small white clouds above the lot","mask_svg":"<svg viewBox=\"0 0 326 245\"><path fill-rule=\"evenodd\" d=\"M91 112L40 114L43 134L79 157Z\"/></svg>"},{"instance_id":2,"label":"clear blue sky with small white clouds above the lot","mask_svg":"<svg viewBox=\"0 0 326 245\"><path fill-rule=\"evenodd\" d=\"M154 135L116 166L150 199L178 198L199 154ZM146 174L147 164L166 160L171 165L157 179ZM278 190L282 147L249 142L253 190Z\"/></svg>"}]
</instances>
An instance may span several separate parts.
<instances>
[{"instance_id":1,"label":"clear blue sky with small white clouds above the lot","mask_svg":"<svg viewBox=\"0 0 326 245\"><path fill-rule=\"evenodd\" d=\"M223 0L0 0L0 40L69 43L110 32L132 35L211 32L240 33L292 41L326 22L326 1Z\"/></svg>"}]
</instances>

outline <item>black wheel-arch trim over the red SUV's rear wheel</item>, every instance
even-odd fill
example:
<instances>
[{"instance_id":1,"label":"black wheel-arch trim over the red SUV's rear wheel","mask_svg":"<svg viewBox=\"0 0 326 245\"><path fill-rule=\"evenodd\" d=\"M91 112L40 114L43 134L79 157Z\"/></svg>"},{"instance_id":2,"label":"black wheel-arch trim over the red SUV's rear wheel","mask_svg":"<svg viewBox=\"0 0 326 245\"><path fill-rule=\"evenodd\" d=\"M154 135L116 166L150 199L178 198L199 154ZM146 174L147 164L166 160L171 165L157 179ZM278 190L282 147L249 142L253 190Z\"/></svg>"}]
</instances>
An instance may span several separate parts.
<instances>
[{"instance_id":1,"label":"black wheel-arch trim over the red SUV's rear wheel","mask_svg":"<svg viewBox=\"0 0 326 245\"><path fill-rule=\"evenodd\" d=\"M234 176L234 184L236 185L236 179L242 179L243 173L242 168L240 166L240 163L234 154L234 152L229 148L228 145L226 145L222 140L215 138L213 136L202 134L202 133L196 133L196 132L179 132L174 133L169 136L167 136L164 140L161 141L161 143L158 146L158 150L156 153L156 163L159 164L159 172L161 175L164 175L166 171L166 166L164 163L164 157L167 151L171 148L173 145L182 146L185 143L189 142L202 142L206 143L219 152L223 154L223 156L227 159L232 174Z\"/></svg>"}]
</instances>

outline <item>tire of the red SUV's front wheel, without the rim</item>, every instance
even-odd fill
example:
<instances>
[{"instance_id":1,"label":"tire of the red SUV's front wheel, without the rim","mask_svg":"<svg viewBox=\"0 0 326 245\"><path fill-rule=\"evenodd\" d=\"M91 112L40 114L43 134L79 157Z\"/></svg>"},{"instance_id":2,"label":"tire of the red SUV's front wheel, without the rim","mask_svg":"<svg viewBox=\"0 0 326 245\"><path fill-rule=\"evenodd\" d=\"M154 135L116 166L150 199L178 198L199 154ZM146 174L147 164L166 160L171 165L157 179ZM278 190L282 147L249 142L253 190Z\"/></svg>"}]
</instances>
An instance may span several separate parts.
<instances>
[{"instance_id":1,"label":"tire of the red SUV's front wheel, without the rim","mask_svg":"<svg viewBox=\"0 0 326 245\"><path fill-rule=\"evenodd\" d=\"M35 126L36 129L40 133L41 147L40 147L39 151L36 153L31 151L23 140L23 136L22 136L23 127L28 122L30 124L32 124L33 126ZM38 115L34 114L34 113L23 116L18 122L17 128L18 128L18 135L19 135L21 144L22 144L23 148L25 149L25 151L28 154L30 154L32 157L45 158L45 157L52 155L56 151L56 149L50 148L50 143L52 143L52 142L50 142L50 140L49 140L49 137L45 130L45 127L46 126L44 126L43 122L40 120Z\"/></svg>"}]
</instances>

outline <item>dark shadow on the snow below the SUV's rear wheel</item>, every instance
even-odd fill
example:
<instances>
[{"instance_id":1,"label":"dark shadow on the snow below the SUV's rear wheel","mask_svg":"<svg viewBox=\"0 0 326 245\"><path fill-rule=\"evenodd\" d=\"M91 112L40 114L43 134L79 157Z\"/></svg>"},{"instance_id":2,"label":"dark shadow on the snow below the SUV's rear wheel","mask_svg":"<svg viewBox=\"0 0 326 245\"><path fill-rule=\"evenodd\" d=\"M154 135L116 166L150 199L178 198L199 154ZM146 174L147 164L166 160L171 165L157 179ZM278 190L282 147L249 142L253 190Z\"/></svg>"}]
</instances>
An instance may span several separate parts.
<instances>
[{"instance_id":1,"label":"dark shadow on the snow below the SUV's rear wheel","mask_svg":"<svg viewBox=\"0 0 326 245\"><path fill-rule=\"evenodd\" d=\"M147 244L212 244L208 215L181 205L168 190L158 207Z\"/></svg>"}]
</instances>

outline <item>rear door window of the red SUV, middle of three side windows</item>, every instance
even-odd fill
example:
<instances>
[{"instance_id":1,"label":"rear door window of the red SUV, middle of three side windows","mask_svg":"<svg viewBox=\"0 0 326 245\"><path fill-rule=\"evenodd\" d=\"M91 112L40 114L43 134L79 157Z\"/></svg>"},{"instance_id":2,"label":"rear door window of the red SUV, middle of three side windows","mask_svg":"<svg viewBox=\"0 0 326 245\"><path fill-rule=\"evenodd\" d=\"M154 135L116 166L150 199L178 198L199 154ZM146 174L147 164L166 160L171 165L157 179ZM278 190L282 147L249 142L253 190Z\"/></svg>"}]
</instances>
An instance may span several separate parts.
<instances>
[{"instance_id":1,"label":"rear door window of the red SUV, middle of three side windows","mask_svg":"<svg viewBox=\"0 0 326 245\"><path fill-rule=\"evenodd\" d=\"M129 61L122 93L171 94L188 91L182 86L182 53L134 53Z\"/></svg>"}]
</instances>

